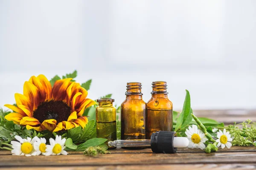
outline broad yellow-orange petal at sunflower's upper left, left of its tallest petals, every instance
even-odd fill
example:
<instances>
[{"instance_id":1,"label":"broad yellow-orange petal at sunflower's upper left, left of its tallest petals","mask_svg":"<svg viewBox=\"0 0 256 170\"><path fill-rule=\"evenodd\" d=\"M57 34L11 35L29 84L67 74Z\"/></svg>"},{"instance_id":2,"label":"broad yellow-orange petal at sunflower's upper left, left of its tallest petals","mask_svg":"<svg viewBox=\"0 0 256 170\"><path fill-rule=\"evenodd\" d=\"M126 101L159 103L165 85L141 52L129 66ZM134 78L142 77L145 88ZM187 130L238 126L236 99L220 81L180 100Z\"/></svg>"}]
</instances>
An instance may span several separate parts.
<instances>
[{"instance_id":1,"label":"broad yellow-orange petal at sunflower's upper left, left of its tallest petals","mask_svg":"<svg viewBox=\"0 0 256 170\"><path fill-rule=\"evenodd\" d=\"M33 111L37 109L40 102L40 93L38 88L31 82L25 82L23 87L23 94L29 99L29 102L33 103Z\"/></svg>"}]
</instances>

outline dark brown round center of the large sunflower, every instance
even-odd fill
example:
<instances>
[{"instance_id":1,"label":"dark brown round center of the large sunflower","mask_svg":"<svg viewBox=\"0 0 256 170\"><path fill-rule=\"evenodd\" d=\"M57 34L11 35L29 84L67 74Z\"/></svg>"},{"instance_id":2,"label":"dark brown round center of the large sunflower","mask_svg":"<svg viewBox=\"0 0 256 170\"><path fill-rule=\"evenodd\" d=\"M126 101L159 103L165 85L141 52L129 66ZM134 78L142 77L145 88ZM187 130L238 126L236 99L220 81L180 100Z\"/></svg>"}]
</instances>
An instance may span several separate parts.
<instances>
[{"instance_id":1,"label":"dark brown round center of the large sunflower","mask_svg":"<svg viewBox=\"0 0 256 170\"><path fill-rule=\"evenodd\" d=\"M55 119L57 123L67 121L70 116L71 108L62 101L46 101L41 102L34 111L35 119L43 123L46 119Z\"/></svg>"}]
</instances>

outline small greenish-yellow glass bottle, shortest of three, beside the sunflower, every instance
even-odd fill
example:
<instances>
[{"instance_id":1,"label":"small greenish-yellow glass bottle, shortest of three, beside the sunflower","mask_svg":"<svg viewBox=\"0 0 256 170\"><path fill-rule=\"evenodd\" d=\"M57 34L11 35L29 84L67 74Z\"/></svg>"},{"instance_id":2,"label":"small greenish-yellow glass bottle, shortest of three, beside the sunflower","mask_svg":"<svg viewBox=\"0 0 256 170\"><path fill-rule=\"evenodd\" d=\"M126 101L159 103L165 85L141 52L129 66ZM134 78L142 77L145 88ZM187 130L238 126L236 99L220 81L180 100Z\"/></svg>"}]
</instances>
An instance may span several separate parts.
<instances>
[{"instance_id":1,"label":"small greenish-yellow glass bottle, shortest of three, beside the sunflower","mask_svg":"<svg viewBox=\"0 0 256 170\"><path fill-rule=\"evenodd\" d=\"M96 108L96 133L97 138L105 138L108 141L116 140L116 108L115 100L111 98L97 99L99 106ZM105 144L108 145L108 141ZM115 149L116 147L108 147Z\"/></svg>"}]
</instances>

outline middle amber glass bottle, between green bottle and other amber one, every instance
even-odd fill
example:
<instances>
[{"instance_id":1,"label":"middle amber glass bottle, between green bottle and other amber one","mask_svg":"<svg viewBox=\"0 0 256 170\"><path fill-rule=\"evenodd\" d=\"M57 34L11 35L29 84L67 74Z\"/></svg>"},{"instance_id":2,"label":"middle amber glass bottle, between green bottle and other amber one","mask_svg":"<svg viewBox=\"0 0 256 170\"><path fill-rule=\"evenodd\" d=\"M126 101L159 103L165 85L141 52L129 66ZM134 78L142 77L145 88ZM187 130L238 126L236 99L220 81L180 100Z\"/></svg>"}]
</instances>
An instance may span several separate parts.
<instances>
[{"instance_id":1,"label":"middle amber glass bottle, between green bottle and other amber one","mask_svg":"<svg viewBox=\"0 0 256 170\"><path fill-rule=\"evenodd\" d=\"M126 99L121 104L121 139L145 139L147 104L142 99L141 83L128 82L126 87Z\"/></svg>"}]
</instances>

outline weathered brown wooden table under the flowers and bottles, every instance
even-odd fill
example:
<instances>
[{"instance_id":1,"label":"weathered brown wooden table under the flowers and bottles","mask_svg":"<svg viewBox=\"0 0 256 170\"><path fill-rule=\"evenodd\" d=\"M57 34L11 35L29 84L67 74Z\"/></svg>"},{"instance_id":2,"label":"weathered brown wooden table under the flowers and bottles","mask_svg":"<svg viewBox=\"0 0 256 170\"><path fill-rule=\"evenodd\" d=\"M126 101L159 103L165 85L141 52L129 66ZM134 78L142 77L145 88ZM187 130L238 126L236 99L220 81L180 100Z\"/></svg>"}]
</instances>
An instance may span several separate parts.
<instances>
[{"instance_id":1,"label":"weathered brown wooden table under the flowers and bottles","mask_svg":"<svg viewBox=\"0 0 256 170\"><path fill-rule=\"evenodd\" d=\"M221 110L194 111L197 116L214 118L220 122L256 121L256 111ZM156 170L156 169L255 169L256 147L219 148L216 153L204 153L200 149L180 149L175 154L156 154L151 149L110 150L111 154L96 157L84 156L81 152L69 152L64 156L12 156L10 151L0 151L0 167L3 169L42 170Z\"/></svg>"}]
</instances>

